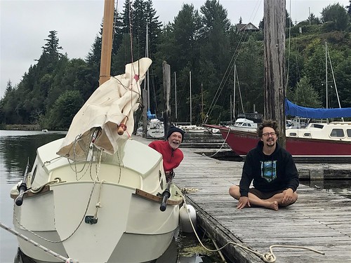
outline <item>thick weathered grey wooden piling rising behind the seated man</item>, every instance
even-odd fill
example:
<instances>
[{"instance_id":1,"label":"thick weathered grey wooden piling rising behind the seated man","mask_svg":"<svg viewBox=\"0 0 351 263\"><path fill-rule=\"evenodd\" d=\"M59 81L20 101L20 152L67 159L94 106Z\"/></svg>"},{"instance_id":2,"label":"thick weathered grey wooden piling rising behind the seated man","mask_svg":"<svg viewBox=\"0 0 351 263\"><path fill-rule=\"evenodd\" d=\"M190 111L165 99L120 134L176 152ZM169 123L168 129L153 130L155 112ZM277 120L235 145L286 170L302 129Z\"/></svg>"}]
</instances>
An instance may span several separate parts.
<instances>
[{"instance_id":1,"label":"thick weathered grey wooden piling rising behind the seated man","mask_svg":"<svg viewBox=\"0 0 351 263\"><path fill-rule=\"evenodd\" d=\"M279 143L285 148L285 24L286 1L265 0L265 119L277 121Z\"/></svg>"}]
</instances>

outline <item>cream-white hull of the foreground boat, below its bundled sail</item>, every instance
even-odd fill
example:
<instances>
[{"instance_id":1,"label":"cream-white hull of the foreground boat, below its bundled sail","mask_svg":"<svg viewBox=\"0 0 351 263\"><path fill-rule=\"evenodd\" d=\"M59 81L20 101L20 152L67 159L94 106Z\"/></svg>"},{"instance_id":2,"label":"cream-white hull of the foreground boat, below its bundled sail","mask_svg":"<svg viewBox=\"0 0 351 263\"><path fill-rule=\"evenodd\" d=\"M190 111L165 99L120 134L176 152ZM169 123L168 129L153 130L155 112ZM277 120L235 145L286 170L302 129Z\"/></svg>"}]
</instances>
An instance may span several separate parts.
<instances>
[{"instance_id":1,"label":"cream-white hull of the foreground boat, below its bundled sail","mask_svg":"<svg viewBox=\"0 0 351 263\"><path fill-rule=\"evenodd\" d=\"M57 143L51 144L44 146L43 154ZM135 147L139 151L134 151ZM150 149L135 141L127 143L124 158L133 151L148 154L149 160L158 159L159 154ZM38 169L34 182L44 180L44 177L47 182L60 177L62 182L46 186L39 194L25 196L21 206L15 205L13 224L18 232L79 262L147 262L166 251L178 229L179 205L168 204L164 212L159 209L156 194L166 187L162 162L157 161L156 166L138 167L143 166L143 161L133 164L124 160L124 167L120 167L106 159L100 166L93 166L84 173L84 165L88 163L69 166L67 160L61 158L57 163L45 165L51 156L47 153L47 159L42 161L41 151L34 163L34 169ZM135 158L138 160L138 154ZM79 180L72 168L84 173L78 173ZM95 180L96 177L99 179ZM142 194L138 194L138 189ZM14 187L11 196L16 194L18 191ZM170 200L182 198L175 185L171 186L171 194ZM87 216L96 217L97 222L90 224ZM21 238L18 243L25 255L39 262L60 262Z\"/></svg>"}]
</instances>

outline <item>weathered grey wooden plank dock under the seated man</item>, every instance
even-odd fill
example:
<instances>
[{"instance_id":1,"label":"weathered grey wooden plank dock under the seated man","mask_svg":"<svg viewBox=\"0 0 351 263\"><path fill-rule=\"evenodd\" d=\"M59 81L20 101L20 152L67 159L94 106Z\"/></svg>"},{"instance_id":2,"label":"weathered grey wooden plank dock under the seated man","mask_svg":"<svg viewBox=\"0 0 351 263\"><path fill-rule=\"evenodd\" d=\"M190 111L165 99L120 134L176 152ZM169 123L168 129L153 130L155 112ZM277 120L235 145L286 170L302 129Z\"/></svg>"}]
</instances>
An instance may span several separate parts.
<instances>
[{"instance_id":1,"label":"weathered grey wooden plank dock under the seated man","mask_svg":"<svg viewBox=\"0 0 351 263\"><path fill-rule=\"evenodd\" d=\"M147 144L143 138L138 138ZM237 210L237 201L229 194L239 184L243 162L218 161L201 154L204 149L182 148L184 160L176 168L174 182L180 188L197 189L186 194L187 203L197 210L198 227L216 241L218 247L239 243L261 254L271 245L299 245L324 252L317 254L298 248L273 248L277 263L351 262L351 199L326 190L300 184L298 201L279 211L265 208ZM200 154L199 154L200 153ZM299 173L333 174L340 166L297 164ZM351 173L351 165L341 170ZM318 179L318 178L317 178ZM321 179L321 177L319 177ZM222 250L231 262L264 262L253 252L227 245Z\"/></svg>"}]
</instances>

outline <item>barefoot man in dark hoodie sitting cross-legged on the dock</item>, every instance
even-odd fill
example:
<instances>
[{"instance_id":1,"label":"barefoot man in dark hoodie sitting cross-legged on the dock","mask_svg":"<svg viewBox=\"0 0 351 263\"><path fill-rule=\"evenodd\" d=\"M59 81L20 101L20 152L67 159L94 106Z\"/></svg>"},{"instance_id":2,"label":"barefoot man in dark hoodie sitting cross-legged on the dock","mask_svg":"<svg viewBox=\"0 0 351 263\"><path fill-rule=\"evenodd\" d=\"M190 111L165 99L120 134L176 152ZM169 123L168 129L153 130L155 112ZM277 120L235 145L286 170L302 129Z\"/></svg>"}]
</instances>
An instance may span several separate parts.
<instances>
[{"instance_id":1,"label":"barefoot man in dark hoodie sitting cross-legged on the dock","mask_svg":"<svg viewBox=\"0 0 351 263\"><path fill-rule=\"evenodd\" d=\"M298 199L298 170L291 154L277 143L278 136L276 121L263 121L258 127L260 141L246 155L239 186L229 189L239 200L237 209L253 205L277 211Z\"/></svg>"}]
</instances>

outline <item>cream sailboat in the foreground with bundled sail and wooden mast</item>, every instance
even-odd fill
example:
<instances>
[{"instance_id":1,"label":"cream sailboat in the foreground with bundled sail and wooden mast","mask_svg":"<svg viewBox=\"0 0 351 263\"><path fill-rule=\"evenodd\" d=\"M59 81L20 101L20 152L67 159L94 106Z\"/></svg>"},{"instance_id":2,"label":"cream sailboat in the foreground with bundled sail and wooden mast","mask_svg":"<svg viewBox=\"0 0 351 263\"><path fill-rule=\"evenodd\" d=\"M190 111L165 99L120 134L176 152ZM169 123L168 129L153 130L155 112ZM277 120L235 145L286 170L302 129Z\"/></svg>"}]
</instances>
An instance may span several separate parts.
<instances>
[{"instance_id":1,"label":"cream sailboat in the foreground with bundled sail and wooden mast","mask_svg":"<svg viewBox=\"0 0 351 263\"><path fill-rule=\"evenodd\" d=\"M113 11L106 0L102 45ZM39 147L11 189L13 224L27 237L18 245L35 262L148 262L173 240L183 195L166 182L161 154L130 137L151 63L141 58L100 83L66 137Z\"/></svg>"}]
</instances>

